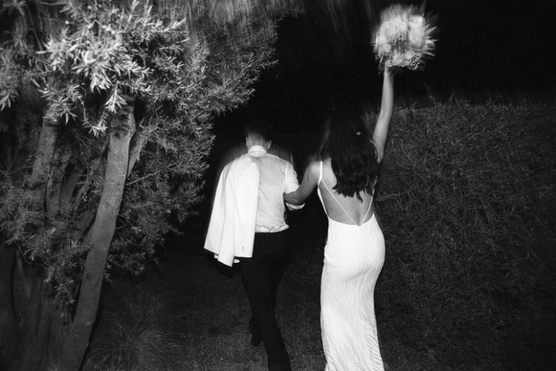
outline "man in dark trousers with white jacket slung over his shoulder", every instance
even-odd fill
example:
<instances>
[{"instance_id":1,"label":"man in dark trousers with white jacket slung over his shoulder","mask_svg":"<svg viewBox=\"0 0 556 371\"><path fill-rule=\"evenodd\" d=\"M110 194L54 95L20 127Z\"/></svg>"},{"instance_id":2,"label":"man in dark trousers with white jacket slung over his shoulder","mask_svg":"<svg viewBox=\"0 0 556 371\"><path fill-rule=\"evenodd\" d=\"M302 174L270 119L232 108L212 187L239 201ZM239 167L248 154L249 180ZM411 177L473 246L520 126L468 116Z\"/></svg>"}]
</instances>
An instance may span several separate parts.
<instances>
[{"instance_id":1,"label":"man in dark trousers with white jacket slung over his shoulder","mask_svg":"<svg viewBox=\"0 0 556 371\"><path fill-rule=\"evenodd\" d=\"M299 182L290 162L268 153L270 127L248 125L245 143L247 154L227 164L220 175L205 248L218 254L224 264L238 259L252 309L251 344L263 342L269 371L291 371L275 308L286 267L288 236L282 195L295 191ZM229 238L222 237L226 233ZM222 253L227 258L222 258Z\"/></svg>"}]
</instances>

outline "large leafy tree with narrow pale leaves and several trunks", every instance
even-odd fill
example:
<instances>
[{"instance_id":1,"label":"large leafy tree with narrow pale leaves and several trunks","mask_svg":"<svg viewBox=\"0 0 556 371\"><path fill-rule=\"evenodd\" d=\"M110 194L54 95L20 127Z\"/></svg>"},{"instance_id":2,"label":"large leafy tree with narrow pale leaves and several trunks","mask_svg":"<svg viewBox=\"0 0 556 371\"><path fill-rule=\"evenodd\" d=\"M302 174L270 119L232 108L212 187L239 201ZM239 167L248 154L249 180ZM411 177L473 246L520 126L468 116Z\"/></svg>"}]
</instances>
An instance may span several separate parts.
<instances>
[{"instance_id":1,"label":"large leafy tree with narrow pale leaves and several trunks","mask_svg":"<svg viewBox=\"0 0 556 371\"><path fill-rule=\"evenodd\" d=\"M23 330L0 337L6 368L79 370L109 268L141 271L170 214L194 212L212 120L247 102L274 63L277 17L293 8L3 3L13 20L0 58L0 255L28 287ZM15 328L14 317L0 325Z\"/></svg>"}]
</instances>

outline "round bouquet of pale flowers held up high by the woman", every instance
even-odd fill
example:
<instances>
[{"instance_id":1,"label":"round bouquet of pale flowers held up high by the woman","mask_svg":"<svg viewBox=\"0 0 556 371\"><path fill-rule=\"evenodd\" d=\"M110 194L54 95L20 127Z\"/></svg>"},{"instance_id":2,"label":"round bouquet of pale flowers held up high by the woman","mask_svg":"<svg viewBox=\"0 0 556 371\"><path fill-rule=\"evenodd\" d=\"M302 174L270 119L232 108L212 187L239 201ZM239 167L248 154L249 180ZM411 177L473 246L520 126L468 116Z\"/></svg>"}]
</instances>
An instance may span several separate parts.
<instances>
[{"instance_id":1,"label":"round bouquet of pale flowers held up high by the woman","mask_svg":"<svg viewBox=\"0 0 556 371\"><path fill-rule=\"evenodd\" d=\"M425 56L434 56L432 33L436 26L427 22L416 6L394 4L382 10L375 30L374 49L380 62L388 67L423 68Z\"/></svg>"}]
</instances>

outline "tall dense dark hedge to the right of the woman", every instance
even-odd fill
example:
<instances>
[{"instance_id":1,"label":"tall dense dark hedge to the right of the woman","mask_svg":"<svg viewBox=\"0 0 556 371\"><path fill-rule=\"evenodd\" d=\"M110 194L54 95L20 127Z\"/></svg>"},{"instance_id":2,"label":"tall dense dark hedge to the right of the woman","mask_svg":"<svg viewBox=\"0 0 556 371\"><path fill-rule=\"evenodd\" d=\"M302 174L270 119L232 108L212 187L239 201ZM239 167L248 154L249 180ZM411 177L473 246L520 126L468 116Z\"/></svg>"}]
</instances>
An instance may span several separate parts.
<instances>
[{"instance_id":1,"label":"tall dense dark hedge to the right of the woman","mask_svg":"<svg viewBox=\"0 0 556 371\"><path fill-rule=\"evenodd\" d=\"M395 111L377 197L384 337L485 369L551 349L532 338L556 302L555 120L548 104Z\"/></svg>"}]
</instances>

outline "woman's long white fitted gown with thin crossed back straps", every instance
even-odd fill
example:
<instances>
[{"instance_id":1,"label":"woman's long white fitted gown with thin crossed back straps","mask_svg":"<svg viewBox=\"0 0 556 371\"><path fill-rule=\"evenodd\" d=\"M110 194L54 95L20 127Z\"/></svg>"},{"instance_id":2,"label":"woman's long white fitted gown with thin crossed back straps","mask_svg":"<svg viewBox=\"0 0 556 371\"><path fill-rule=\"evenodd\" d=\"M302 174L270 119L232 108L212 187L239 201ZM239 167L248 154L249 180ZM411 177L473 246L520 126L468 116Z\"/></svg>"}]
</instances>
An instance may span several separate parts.
<instances>
[{"instance_id":1,"label":"woman's long white fitted gown with thin crossed back straps","mask_svg":"<svg viewBox=\"0 0 556 371\"><path fill-rule=\"evenodd\" d=\"M322 163L318 185L321 183L332 194L322 181ZM317 192L327 212L320 188ZM338 201L334 194L332 197ZM353 221L349 214L347 216ZM320 285L325 371L384 371L374 300L375 284L384 264L384 236L374 213L360 226L353 223L340 223L328 217L325 266Z\"/></svg>"}]
</instances>

